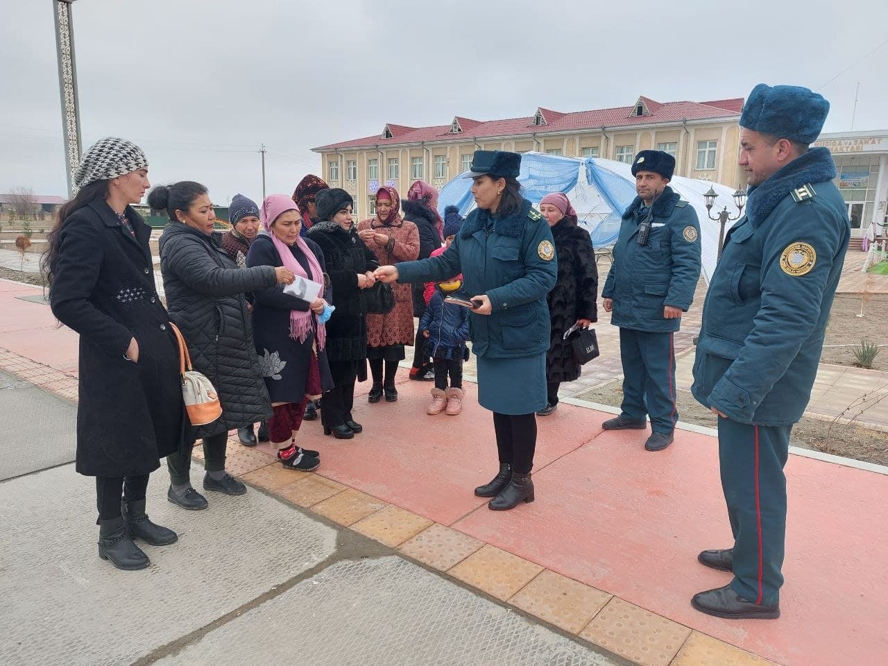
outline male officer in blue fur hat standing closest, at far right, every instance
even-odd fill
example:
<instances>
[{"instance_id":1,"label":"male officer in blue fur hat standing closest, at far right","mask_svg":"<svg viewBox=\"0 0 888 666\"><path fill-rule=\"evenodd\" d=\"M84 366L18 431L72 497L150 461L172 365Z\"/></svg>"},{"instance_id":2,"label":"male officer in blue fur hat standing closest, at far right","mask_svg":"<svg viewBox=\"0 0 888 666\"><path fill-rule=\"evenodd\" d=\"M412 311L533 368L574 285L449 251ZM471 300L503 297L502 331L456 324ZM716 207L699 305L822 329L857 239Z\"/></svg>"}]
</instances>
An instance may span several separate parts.
<instances>
[{"instance_id":1,"label":"male officer in blue fur hat standing closest, at far right","mask_svg":"<svg viewBox=\"0 0 888 666\"><path fill-rule=\"evenodd\" d=\"M733 571L691 603L726 618L780 616L789 432L811 397L850 227L836 167L817 139L829 102L759 83L740 119L746 216L725 241L703 305L694 397L718 415L733 548L702 551Z\"/></svg>"}]
</instances>

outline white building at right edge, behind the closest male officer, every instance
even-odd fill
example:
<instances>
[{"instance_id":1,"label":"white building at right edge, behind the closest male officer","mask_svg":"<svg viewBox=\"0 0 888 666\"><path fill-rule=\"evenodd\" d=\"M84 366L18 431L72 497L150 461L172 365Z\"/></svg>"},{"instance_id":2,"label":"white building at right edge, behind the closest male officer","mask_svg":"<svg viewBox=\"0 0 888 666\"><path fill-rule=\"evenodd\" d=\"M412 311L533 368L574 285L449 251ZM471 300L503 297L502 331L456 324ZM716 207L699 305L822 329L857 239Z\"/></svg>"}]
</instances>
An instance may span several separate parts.
<instances>
[{"instance_id":1,"label":"white building at right edge, behind the closest male officer","mask_svg":"<svg viewBox=\"0 0 888 666\"><path fill-rule=\"evenodd\" d=\"M821 134L813 146L829 148L836 161L836 186L848 206L852 236L863 235L873 222L888 225L888 130Z\"/></svg>"}]
</instances>

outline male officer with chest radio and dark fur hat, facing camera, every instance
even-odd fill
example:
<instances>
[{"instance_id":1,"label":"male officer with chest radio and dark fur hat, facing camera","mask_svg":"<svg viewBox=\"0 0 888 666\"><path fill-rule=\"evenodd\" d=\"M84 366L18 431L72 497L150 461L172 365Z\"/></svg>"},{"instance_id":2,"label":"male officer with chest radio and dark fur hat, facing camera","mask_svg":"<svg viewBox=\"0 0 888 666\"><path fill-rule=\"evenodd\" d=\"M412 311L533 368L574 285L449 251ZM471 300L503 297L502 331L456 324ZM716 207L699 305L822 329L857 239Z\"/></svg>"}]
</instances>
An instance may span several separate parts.
<instances>
[{"instance_id":1,"label":"male officer with chest radio and dark fur hat, facing camera","mask_svg":"<svg viewBox=\"0 0 888 666\"><path fill-rule=\"evenodd\" d=\"M605 430L643 430L645 443L660 451L672 443L675 404L675 347L672 335L694 300L700 278L697 213L669 186L675 158L642 150L632 163L638 196L622 214L614 264L601 290L602 305L620 327L622 412Z\"/></svg>"}]
</instances>

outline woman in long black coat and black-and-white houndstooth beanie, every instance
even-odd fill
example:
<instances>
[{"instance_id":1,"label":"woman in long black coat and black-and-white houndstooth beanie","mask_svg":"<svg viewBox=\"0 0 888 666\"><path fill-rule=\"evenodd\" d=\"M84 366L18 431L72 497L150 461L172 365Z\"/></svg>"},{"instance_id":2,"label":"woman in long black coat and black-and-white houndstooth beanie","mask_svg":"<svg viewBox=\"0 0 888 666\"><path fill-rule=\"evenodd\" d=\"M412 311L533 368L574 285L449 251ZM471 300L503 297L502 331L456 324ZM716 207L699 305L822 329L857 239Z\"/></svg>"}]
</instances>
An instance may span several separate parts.
<instances>
[{"instance_id":1,"label":"woman in long black coat and black-and-white houndstooth beanie","mask_svg":"<svg viewBox=\"0 0 888 666\"><path fill-rule=\"evenodd\" d=\"M147 173L138 146L100 139L83 155L79 192L59 210L43 258L52 313L80 334L75 469L96 478L99 557L121 569L150 564L133 537L178 538L145 513L148 475L179 448L184 415L151 228L130 205L150 186Z\"/></svg>"}]
</instances>

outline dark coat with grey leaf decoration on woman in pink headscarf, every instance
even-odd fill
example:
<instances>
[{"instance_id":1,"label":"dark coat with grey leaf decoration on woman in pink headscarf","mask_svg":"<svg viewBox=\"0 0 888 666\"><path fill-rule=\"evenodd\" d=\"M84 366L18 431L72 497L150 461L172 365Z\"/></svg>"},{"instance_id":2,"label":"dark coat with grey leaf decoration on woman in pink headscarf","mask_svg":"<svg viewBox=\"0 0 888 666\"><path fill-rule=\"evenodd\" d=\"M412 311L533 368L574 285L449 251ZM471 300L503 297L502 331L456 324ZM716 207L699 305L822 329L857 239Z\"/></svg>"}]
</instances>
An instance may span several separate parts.
<instances>
[{"instance_id":1,"label":"dark coat with grey leaf decoration on woman in pink headscarf","mask_svg":"<svg viewBox=\"0 0 888 666\"><path fill-rule=\"evenodd\" d=\"M310 277L322 284L323 274L326 273L324 255L311 239L306 238L305 244L314 252L321 265L321 275ZM302 257L302 250L296 245L290 250L307 272L308 260ZM247 266L283 266L271 236L261 233L256 237L247 252ZM321 297L329 303L332 298L331 289L328 287ZM305 397L305 383L308 381L318 318L315 314L311 315L314 330L305 337L305 342L299 342L289 335L289 313L290 310L306 312L310 305L302 298L285 294L282 284L253 291L253 336L256 337L259 366L272 402L301 402ZM325 350L318 350L318 370L321 373L321 389L329 391L333 388L333 378L330 376Z\"/></svg>"}]
</instances>

